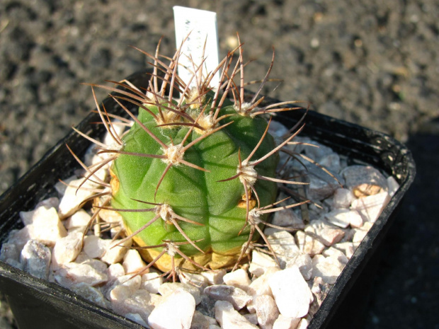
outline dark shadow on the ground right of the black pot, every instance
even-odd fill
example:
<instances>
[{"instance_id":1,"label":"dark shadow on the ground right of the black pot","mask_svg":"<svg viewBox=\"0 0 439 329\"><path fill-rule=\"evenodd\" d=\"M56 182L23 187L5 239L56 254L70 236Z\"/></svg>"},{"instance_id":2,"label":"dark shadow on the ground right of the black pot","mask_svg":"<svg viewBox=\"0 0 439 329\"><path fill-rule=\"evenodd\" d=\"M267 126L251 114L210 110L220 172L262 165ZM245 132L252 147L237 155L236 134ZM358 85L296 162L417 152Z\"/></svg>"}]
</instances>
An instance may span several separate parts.
<instances>
[{"instance_id":1,"label":"dark shadow on the ground right of the black pot","mask_svg":"<svg viewBox=\"0 0 439 329\"><path fill-rule=\"evenodd\" d=\"M439 134L406 143L416 178L383 241L365 327L439 328Z\"/></svg>"}]
</instances>

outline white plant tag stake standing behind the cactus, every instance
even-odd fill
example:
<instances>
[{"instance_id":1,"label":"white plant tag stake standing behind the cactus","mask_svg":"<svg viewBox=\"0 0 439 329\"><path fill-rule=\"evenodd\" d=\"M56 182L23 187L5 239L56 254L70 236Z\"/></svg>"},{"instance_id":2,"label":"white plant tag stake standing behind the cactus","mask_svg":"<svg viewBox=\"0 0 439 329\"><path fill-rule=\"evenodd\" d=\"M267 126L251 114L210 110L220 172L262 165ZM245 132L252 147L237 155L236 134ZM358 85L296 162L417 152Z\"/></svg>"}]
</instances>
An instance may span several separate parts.
<instances>
[{"instance_id":1,"label":"white plant tag stake standing behind the cactus","mask_svg":"<svg viewBox=\"0 0 439 329\"><path fill-rule=\"evenodd\" d=\"M215 70L219 64L217 13L200 9L173 7L176 30L176 46L181 46L181 56L178 59L178 75L185 83L193 76L195 68L203 62L203 76ZM205 46L206 45L206 46ZM194 63L194 64L193 64ZM216 87L220 82L220 71L210 81L210 86ZM196 86L196 80L190 82L190 87Z\"/></svg>"}]
</instances>

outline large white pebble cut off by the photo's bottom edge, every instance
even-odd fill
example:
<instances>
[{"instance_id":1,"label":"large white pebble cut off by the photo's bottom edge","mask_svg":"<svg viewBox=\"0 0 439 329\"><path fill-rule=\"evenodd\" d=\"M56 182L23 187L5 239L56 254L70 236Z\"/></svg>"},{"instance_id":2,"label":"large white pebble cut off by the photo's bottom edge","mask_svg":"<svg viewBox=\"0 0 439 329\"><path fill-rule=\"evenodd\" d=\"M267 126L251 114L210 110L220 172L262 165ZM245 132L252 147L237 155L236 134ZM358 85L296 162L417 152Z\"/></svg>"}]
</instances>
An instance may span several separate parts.
<instances>
[{"instance_id":1,"label":"large white pebble cut off by the photo's bottom edge","mask_svg":"<svg viewBox=\"0 0 439 329\"><path fill-rule=\"evenodd\" d=\"M184 290L176 290L157 305L148 318L153 329L190 329L195 312L195 299Z\"/></svg>"}]
</instances>

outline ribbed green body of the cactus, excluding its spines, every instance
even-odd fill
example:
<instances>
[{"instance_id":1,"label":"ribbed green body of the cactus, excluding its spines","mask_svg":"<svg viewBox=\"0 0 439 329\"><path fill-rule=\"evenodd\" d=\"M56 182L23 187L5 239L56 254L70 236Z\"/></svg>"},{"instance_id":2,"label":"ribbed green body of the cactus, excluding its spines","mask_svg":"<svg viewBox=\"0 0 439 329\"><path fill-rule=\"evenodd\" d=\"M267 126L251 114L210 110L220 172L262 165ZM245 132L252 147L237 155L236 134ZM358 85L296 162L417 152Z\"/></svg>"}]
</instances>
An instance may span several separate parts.
<instances>
[{"instance_id":1,"label":"ribbed green body of the cactus, excluding its spines","mask_svg":"<svg viewBox=\"0 0 439 329\"><path fill-rule=\"evenodd\" d=\"M191 105L190 112L188 112L190 116L194 120L200 117L198 122L208 120L212 98L213 93L207 93L203 101ZM140 108L137 117L139 122L142 122L161 142L169 146L169 149L181 144L189 131L183 146L207 134L203 130L193 129L186 125L157 127L158 122L154 115L159 116L158 108L155 105L145 105L145 107L150 112ZM167 104L166 107L181 110L176 103ZM169 110L162 110L162 112L164 117L172 117L171 121L174 124L185 121L184 117L179 117L175 112ZM152 209L149 212L120 212L128 232L135 232L148 221L160 216L159 220L154 221L134 236L139 246L157 246L163 243L162 241L183 243L189 238L191 241L198 242L182 244L178 248L202 265L217 268L236 261L242 246L249 240L250 226L242 230L246 225L246 216L248 216L246 191L240 179L225 179L236 175L240 159L247 158L258 142L262 140L252 159L265 156L275 148L275 144L273 137L269 134L262 139L267 127L267 122L262 117L239 115L234 104L229 100L222 105L218 117L222 116L224 118L217 122L217 126L227 123L229 125L200 139L184 152L185 161L203 168L204 171L184 163L175 163L166 171L169 165L168 158L134 155L161 156L172 151L169 149L165 151L161 144L156 142L139 123L135 123L123 137L122 151L129 154L120 154L112 166L112 206L115 209ZM277 163L278 156L275 154L258 163L254 169L258 175L274 177ZM252 188L256 193L251 192ZM251 194L249 210L256 207L256 194L259 208L275 201L276 183L256 180L252 188L249 187L247 192ZM152 206L144 202L161 204L161 206ZM164 207L170 207L171 212L177 214L178 217L195 221L200 225L178 220L178 217L166 212ZM176 220L188 238L183 236L169 217ZM266 214L261 215L261 219L264 217ZM257 234L254 234L253 240L257 238ZM198 248L195 248L193 244ZM151 261L160 252L161 248L144 249L142 255ZM157 265L164 270L169 269L169 260L166 260L166 255L157 262Z\"/></svg>"}]
</instances>

